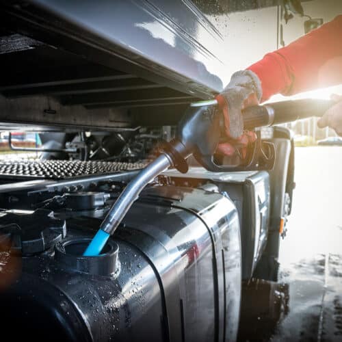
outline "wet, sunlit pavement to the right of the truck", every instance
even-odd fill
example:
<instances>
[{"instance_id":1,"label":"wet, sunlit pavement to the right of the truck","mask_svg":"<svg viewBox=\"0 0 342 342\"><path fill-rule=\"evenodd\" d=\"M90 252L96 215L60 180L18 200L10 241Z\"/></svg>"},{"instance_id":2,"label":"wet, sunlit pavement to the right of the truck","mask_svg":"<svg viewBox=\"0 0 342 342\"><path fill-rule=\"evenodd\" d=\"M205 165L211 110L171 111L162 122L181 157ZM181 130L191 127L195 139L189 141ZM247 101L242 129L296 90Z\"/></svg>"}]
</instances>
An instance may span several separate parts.
<instances>
[{"instance_id":1,"label":"wet, sunlit pavement to the right of the truck","mask_svg":"<svg viewBox=\"0 0 342 342\"><path fill-rule=\"evenodd\" d=\"M240 341L342 341L342 148L295 152L279 281L244 284Z\"/></svg>"}]
</instances>

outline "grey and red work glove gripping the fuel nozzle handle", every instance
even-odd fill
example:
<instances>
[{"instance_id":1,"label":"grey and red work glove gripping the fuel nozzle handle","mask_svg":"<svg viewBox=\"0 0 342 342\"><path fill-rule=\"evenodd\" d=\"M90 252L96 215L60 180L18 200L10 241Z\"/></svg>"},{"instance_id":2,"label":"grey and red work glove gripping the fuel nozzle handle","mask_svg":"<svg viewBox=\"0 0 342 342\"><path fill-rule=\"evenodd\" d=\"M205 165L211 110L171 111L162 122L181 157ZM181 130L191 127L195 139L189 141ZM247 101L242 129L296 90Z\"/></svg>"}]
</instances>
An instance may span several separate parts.
<instances>
[{"instance_id":1,"label":"grey and red work glove gripping the fuel nozzle handle","mask_svg":"<svg viewBox=\"0 0 342 342\"><path fill-rule=\"evenodd\" d=\"M256 140L256 135L253 132L244 132L241 111L251 105L258 105L261 96L261 82L251 70L234 73L228 86L216 96L224 115L224 129L227 136L227 142L218 146L218 153L233 155L236 148L242 147L244 157L246 146Z\"/></svg>"}]
</instances>

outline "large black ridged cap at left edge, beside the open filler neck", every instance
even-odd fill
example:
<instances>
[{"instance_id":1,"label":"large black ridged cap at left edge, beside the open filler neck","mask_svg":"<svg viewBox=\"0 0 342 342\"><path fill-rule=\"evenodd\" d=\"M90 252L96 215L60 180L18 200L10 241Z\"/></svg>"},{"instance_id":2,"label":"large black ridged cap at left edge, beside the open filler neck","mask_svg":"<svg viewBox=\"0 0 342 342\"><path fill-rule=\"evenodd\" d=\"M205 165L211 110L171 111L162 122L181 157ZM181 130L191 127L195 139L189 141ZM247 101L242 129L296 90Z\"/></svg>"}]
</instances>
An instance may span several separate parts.
<instances>
[{"instance_id":1,"label":"large black ridged cap at left edge, beside the open filler neck","mask_svg":"<svg viewBox=\"0 0 342 342\"><path fill-rule=\"evenodd\" d=\"M66 236L66 222L53 211L3 211L0 213L0 250L23 256L38 254Z\"/></svg>"}]
</instances>

